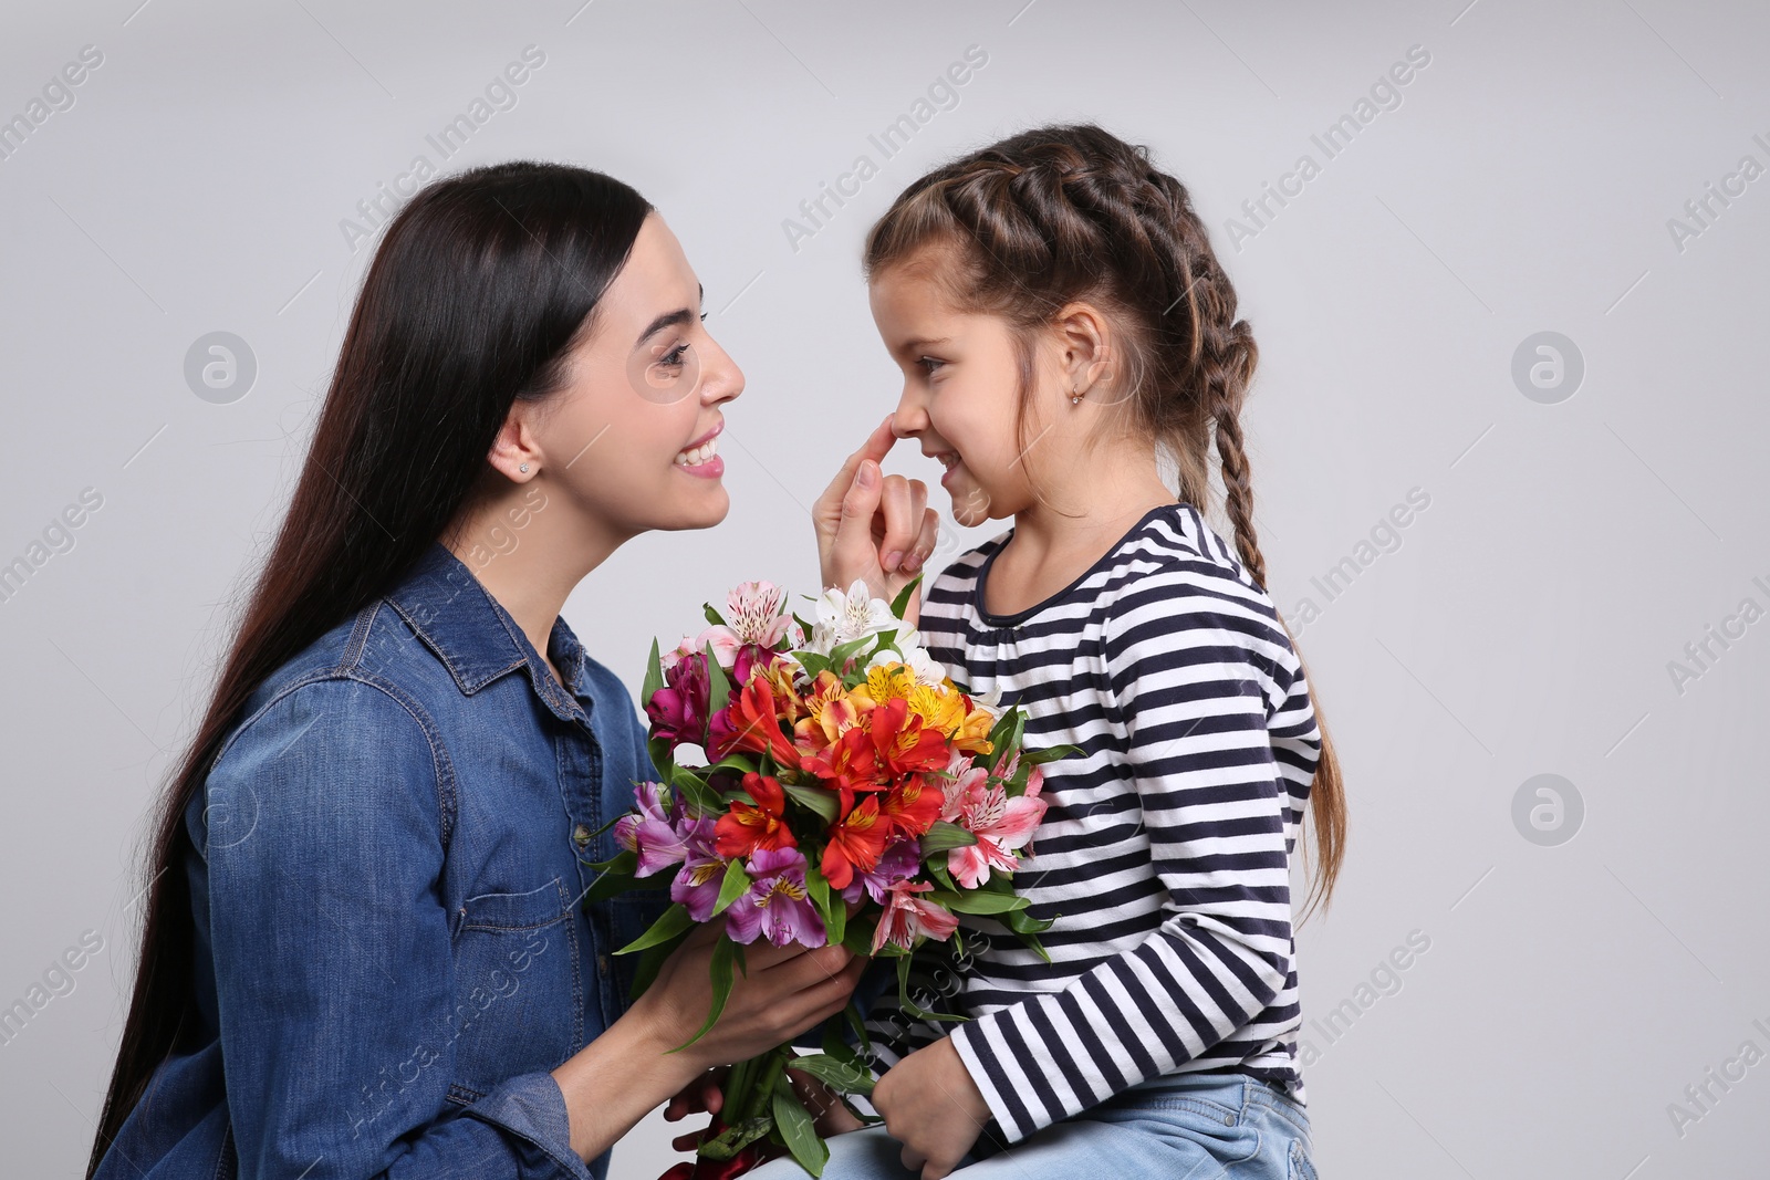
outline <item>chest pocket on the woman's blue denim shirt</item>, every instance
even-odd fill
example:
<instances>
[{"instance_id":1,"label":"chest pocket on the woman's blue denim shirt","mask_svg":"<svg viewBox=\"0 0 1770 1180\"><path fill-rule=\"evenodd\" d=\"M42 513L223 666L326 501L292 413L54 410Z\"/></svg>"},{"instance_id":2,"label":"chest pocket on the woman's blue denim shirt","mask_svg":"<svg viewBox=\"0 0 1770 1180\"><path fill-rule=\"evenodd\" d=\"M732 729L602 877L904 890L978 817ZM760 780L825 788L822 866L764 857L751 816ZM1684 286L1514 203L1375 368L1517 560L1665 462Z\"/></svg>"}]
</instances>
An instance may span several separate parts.
<instances>
[{"instance_id":1,"label":"chest pocket on the woman's blue denim shirt","mask_svg":"<svg viewBox=\"0 0 1770 1180\"><path fill-rule=\"evenodd\" d=\"M526 893L462 902L451 1099L476 1102L510 1077L559 1067L584 1046L579 923L558 877Z\"/></svg>"}]
</instances>

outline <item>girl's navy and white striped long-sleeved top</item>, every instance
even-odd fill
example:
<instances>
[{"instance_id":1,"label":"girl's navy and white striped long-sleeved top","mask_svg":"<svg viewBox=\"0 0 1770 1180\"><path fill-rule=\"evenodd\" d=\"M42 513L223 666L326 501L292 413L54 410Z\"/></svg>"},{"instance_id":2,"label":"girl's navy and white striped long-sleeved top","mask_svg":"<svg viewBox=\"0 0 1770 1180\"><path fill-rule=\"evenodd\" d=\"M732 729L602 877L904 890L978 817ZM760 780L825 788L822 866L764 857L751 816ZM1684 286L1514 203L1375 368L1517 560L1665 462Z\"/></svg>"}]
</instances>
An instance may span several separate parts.
<instances>
[{"instance_id":1,"label":"girl's navy and white striped long-sleeved top","mask_svg":"<svg viewBox=\"0 0 1770 1180\"><path fill-rule=\"evenodd\" d=\"M1014 874L1055 918L1051 962L963 915L963 955L924 943L912 1000L970 1019L910 1021L890 984L867 1014L878 1061L950 1035L1007 1143L1163 1074L1243 1070L1301 1102L1290 856L1320 729L1271 598L1177 502L993 616L982 587L1011 536L935 580L920 630L954 681L1028 711L1027 748L1081 748L1046 766Z\"/></svg>"}]
</instances>

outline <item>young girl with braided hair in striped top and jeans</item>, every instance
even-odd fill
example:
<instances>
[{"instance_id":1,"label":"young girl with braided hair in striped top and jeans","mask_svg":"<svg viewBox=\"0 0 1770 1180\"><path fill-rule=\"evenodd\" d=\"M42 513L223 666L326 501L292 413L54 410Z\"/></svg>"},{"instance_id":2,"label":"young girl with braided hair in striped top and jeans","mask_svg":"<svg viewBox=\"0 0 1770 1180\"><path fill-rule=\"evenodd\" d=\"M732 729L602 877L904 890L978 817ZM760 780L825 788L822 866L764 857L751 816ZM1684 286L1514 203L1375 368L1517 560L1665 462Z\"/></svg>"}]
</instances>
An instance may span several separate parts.
<instances>
[{"instance_id":1,"label":"young girl with braided hair in striped top and jeans","mask_svg":"<svg viewBox=\"0 0 1770 1180\"><path fill-rule=\"evenodd\" d=\"M1329 895L1343 801L1266 591L1237 423L1257 352L1205 228L1145 149L1043 127L912 184L866 272L896 435L945 465L961 524L1014 522L933 582L924 642L1025 706L1028 747L1081 754L1046 768L1014 874L1051 961L981 916L963 959L929 943L922 1005L972 1019L910 1023L883 989L885 1125L835 1136L823 1175L1313 1176L1290 869L1313 800ZM1234 545L1202 511L1212 433ZM885 591L926 559L889 446L820 504L830 584Z\"/></svg>"}]
</instances>

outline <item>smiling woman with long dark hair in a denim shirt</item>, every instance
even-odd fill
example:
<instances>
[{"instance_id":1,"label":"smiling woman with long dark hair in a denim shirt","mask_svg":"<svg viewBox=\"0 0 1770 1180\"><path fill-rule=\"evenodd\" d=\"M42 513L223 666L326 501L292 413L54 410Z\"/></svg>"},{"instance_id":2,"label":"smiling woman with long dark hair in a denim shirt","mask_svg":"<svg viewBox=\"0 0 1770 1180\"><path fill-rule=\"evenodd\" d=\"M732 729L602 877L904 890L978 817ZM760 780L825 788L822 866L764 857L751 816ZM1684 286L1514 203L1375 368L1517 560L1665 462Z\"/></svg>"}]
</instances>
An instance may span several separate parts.
<instances>
[{"instance_id":1,"label":"smiling woman with long dark hair in a denim shirt","mask_svg":"<svg viewBox=\"0 0 1770 1180\"><path fill-rule=\"evenodd\" d=\"M600 1178L848 1001L862 959L756 945L666 1054L712 927L628 1007L611 952L667 897L579 904L655 771L559 609L632 536L726 515L743 377L699 303L639 193L581 168L480 168L388 226L165 800L88 1176Z\"/></svg>"}]
</instances>

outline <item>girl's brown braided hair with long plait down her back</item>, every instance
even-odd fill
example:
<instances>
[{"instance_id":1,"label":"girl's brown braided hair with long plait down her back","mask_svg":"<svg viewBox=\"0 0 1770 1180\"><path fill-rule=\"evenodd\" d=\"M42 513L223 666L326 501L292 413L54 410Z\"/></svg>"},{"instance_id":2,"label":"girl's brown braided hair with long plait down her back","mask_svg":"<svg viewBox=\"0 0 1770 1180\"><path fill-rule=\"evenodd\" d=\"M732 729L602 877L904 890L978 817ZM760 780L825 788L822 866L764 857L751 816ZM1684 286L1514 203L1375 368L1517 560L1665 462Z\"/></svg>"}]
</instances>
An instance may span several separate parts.
<instances>
[{"instance_id":1,"label":"girl's brown braided hair with long plait down her back","mask_svg":"<svg viewBox=\"0 0 1770 1180\"><path fill-rule=\"evenodd\" d=\"M938 262L924 253L929 248L942 251ZM1235 318L1235 288L1186 186L1156 168L1147 147L1092 124L1051 126L954 159L899 193L869 230L866 274L896 265L926 269L956 306L1002 317L1014 329L1023 449L1037 329L1066 304L1099 308L1120 341L1110 368L1112 387L1124 391L1124 426L1161 446L1179 499L1200 508L1212 499L1214 435L1235 552L1266 587L1241 433L1260 350L1248 320ZM1345 849L1340 764L1319 701L1317 722L1320 757L1310 787L1317 872L1308 908L1333 893Z\"/></svg>"}]
</instances>

